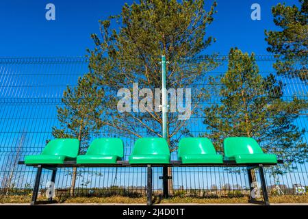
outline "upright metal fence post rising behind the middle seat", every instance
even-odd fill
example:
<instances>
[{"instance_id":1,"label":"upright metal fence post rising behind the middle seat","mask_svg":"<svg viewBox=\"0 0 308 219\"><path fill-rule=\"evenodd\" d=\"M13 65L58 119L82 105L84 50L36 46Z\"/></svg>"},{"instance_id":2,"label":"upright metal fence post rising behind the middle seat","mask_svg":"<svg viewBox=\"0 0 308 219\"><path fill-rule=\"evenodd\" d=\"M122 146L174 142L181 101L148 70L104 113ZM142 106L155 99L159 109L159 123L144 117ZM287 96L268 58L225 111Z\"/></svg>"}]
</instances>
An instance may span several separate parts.
<instances>
[{"instance_id":1,"label":"upright metal fence post rising behind the middle seat","mask_svg":"<svg viewBox=\"0 0 308 219\"><path fill-rule=\"evenodd\" d=\"M163 138L168 140L167 136L167 77L166 77L166 56L162 55L162 133ZM163 167L163 192L164 198L168 198L168 167Z\"/></svg>"}]
</instances>

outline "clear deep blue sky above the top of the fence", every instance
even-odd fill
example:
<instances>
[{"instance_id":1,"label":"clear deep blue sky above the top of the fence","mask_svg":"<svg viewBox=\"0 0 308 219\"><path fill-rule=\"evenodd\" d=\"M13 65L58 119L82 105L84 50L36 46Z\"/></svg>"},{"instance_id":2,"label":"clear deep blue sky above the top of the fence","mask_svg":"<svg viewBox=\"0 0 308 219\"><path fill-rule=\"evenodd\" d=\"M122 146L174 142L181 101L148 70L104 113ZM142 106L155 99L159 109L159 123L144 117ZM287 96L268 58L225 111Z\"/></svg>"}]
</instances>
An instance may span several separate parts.
<instances>
[{"instance_id":1,"label":"clear deep blue sky above the top of the fence","mask_svg":"<svg viewBox=\"0 0 308 219\"><path fill-rule=\"evenodd\" d=\"M277 29L272 5L282 0L218 0L218 13L208 30L217 42L205 53L227 54L231 47L266 54L264 29ZM0 57L79 56L92 48L90 34L99 33L99 19L118 14L131 0L2 0L0 2ZM206 1L206 7L212 1ZM55 5L55 21L45 19L45 5ZM261 5L261 21L251 20L251 5ZM287 5L298 1L285 0Z\"/></svg>"}]
</instances>

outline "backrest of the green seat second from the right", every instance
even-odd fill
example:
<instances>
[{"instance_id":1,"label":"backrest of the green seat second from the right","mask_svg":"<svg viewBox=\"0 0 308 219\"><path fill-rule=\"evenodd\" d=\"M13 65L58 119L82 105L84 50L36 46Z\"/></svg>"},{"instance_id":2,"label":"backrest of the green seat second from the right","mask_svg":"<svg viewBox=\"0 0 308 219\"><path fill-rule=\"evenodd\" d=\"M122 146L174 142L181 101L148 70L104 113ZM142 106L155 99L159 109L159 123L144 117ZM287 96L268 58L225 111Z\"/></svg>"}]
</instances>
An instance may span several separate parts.
<instances>
[{"instance_id":1,"label":"backrest of the green seat second from the right","mask_svg":"<svg viewBox=\"0 0 308 219\"><path fill-rule=\"evenodd\" d=\"M183 155L216 155L216 150L208 138L183 138L179 142L179 157Z\"/></svg>"}]
</instances>

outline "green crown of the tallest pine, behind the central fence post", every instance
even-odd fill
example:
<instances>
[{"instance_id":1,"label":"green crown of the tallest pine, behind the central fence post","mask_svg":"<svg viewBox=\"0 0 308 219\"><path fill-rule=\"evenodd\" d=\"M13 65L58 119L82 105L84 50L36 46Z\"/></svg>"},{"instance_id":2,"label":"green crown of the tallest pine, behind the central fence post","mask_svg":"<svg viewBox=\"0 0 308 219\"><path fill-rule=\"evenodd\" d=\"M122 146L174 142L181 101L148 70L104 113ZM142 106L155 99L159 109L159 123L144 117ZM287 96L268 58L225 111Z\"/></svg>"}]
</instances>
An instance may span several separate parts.
<instances>
[{"instance_id":1,"label":"green crown of the tallest pine, behind the central fence post","mask_svg":"<svg viewBox=\"0 0 308 219\"><path fill-rule=\"evenodd\" d=\"M216 3L207 12L203 0L141 0L125 4L122 12L99 21L101 36L92 34L96 45L89 51L90 70L97 84L108 94L108 118L103 121L122 136L142 137L142 133L161 137L162 115L119 113L116 109L120 88L131 90L133 83L140 89L161 88L160 55L166 55L167 88L190 88L194 81L202 80L206 73L217 66L213 59L199 64L185 64L180 60L198 55L214 38L206 37L207 25L214 20ZM117 29L112 29L116 22ZM106 57L107 56L107 57ZM193 98L200 99L195 94ZM195 101L197 102L197 101ZM177 114L168 114L168 140L171 151L175 149L172 137L179 130L187 134L185 121Z\"/></svg>"}]
</instances>

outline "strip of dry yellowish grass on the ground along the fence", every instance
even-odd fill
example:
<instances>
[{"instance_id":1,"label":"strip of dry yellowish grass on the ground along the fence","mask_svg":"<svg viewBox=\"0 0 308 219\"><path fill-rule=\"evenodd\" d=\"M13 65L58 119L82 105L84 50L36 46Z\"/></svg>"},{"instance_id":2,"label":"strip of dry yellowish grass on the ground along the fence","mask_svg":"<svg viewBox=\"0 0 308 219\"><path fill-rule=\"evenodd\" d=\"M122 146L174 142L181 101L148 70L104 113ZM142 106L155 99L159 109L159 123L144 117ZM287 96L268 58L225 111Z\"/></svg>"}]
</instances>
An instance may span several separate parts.
<instances>
[{"instance_id":1,"label":"strip of dry yellowish grass on the ground along the fence","mask_svg":"<svg viewBox=\"0 0 308 219\"><path fill-rule=\"evenodd\" d=\"M38 201L43 201L44 198L38 198ZM31 196L2 196L0 203L30 203ZM111 197L75 197L65 198L57 197L55 201L58 203L121 203L121 204L145 204L146 197L129 198L125 196ZM168 199L160 199L155 196L153 203L199 203L199 204L222 204L222 203L248 203L248 197L240 198L194 198L194 197L173 197ZM308 195L303 196L272 196L270 203L308 203Z\"/></svg>"}]
</instances>

